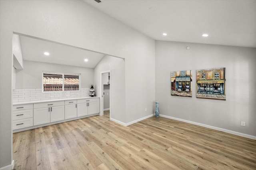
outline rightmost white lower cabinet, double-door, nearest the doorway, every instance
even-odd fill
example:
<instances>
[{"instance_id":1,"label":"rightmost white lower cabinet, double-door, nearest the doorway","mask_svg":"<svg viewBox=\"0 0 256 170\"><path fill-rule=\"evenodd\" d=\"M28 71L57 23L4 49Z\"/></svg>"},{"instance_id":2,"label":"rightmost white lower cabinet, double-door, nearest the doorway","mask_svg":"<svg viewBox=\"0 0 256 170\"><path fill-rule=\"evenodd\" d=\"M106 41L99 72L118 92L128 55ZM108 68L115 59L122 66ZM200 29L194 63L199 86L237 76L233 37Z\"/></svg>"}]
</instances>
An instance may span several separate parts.
<instances>
[{"instance_id":1,"label":"rightmost white lower cabinet, double-door, nearest the doorway","mask_svg":"<svg viewBox=\"0 0 256 170\"><path fill-rule=\"evenodd\" d=\"M77 117L100 112L99 98L77 100Z\"/></svg>"}]
</instances>

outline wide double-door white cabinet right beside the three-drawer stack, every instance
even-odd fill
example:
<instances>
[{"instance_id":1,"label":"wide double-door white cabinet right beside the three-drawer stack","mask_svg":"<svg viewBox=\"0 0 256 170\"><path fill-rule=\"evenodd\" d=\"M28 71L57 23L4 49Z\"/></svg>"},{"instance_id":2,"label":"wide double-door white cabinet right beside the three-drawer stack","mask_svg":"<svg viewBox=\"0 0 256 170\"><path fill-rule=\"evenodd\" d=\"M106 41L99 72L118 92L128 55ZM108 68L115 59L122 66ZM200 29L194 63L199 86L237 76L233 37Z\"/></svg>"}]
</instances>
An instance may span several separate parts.
<instances>
[{"instance_id":1,"label":"wide double-door white cabinet right beside the three-drawer stack","mask_svg":"<svg viewBox=\"0 0 256 170\"><path fill-rule=\"evenodd\" d=\"M34 125L41 125L64 119L64 101L34 104Z\"/></svg>"}]
</instances>

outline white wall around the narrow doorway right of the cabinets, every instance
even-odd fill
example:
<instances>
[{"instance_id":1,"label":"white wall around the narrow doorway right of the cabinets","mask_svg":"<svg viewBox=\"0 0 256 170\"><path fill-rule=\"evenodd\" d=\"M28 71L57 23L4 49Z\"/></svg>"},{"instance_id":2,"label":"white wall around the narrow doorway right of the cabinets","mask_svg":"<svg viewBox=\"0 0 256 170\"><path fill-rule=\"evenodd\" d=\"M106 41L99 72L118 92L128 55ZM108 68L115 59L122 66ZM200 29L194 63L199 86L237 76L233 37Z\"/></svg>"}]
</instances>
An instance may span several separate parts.
<instances>
[{"instance_id":1,"label":"white wall around the narrow doorway right of the cabinets","mask_svg":"<svg viewBox=\"0 0 256 170\"><path fill-rule=\"evenodd\" d=\"M94 68L94 84L96 95L100 94L100 74L110 70L110 107L111 118L125 123L125 62L124 59L112 56L104 56Z\"/></svg>"}]
</instances>

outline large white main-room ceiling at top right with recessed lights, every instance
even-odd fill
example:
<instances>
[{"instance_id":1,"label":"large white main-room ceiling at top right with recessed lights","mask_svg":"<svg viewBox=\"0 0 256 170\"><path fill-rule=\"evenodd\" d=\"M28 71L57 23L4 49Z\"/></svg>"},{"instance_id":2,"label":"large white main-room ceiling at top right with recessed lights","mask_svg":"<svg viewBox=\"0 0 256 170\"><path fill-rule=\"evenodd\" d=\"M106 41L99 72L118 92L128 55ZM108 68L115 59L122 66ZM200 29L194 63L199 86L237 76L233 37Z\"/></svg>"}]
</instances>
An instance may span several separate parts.
<instances>
[{"instance_id":1,"label":"large white main-room ceiling at top right with recessed lights","mask_svg":"<svg viewBox=\"0 0 256 170\"><path fill-rule=\"evenodd\" d=\"M154 40L256 47L256 0L84 2Z\"/></svg>"}]
</instances>

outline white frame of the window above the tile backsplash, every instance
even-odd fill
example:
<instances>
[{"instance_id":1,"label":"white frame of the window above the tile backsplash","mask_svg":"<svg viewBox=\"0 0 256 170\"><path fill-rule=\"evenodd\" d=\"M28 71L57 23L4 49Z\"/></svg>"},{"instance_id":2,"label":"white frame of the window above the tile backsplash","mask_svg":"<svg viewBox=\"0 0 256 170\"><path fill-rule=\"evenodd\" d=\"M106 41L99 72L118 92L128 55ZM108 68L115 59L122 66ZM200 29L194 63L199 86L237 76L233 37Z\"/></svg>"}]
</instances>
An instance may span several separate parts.
<instances>
[{"instance_id":1,"label":"white frame of the window above the tile backsplash","mask_svg":"<svg viewBox=\"0 0 256 170\"><path fill-rule=\"evenodd\" d=\"M61 91L44 91L44 74L61 74L62 75L62 90ZM64 80L65 75L79 76L79 90L65 90L65 80ZM80 92L80 91L81 91L81 73L42 71L42 93Z\"/></svg>"}]
</instances>

